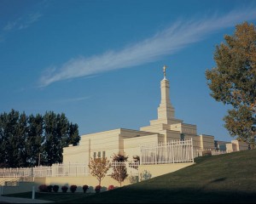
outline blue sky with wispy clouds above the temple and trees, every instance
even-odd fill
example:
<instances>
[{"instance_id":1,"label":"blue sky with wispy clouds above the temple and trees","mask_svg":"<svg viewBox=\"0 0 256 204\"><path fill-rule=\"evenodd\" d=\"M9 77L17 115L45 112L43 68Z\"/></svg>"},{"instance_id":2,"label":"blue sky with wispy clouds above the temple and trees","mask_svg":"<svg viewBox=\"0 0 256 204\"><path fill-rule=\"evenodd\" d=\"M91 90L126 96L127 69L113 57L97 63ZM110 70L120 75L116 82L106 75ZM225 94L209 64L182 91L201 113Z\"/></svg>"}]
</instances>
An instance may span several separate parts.
<instances>
[{"instance_id":1,"label":"blue sky with wispy clouds above the temple and trees","mask_svg":"<svg viewBox=\"0 0 256 204\"><path fill-rule=\"evenodd\" d=\"M249 0L0 0L0 112L64 112L81 135L139 129L157 118L167 65L176 118L230 141L205 71L255 20Z\"/></svg>"}]
</instances>

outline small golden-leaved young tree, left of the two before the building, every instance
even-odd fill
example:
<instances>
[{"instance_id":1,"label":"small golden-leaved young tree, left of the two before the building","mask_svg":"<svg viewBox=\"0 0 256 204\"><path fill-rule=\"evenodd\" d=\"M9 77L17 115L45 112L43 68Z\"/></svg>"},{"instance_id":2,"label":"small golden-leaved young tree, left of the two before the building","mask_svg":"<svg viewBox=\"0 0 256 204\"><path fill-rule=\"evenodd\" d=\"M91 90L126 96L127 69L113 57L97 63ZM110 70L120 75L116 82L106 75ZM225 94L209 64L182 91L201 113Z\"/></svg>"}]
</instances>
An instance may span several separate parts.
<instances>
[{"instance_id":1,"label":"small golden-leaved young tree, left of the two before the building","mask_svg":"<svg viewBox=\"0 0 256 204\"><path fill-rule=\"evenodd\" d=\"M110 161L107 157L102 158L90 158L90 174L99 181L99 185L102 183L102 179L106 176L110 167Z\"/></svg>"}]
</instances>

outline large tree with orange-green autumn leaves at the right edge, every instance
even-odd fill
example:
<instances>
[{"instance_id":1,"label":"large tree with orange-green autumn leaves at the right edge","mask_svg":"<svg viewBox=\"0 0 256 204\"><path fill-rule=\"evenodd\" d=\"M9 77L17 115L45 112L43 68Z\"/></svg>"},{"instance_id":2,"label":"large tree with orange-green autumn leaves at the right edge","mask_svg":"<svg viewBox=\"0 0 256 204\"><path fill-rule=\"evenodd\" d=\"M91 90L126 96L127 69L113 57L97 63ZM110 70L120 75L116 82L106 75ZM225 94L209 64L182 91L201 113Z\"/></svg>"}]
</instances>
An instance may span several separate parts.
<instances>
[{"instance_id":1,"label":"large tree with orange-green autumn leaves at the right edge","mask_svg":"<svg viewBox=\"0 0 256 204\"><path fill-rule=\"evenodd\" d=\"M216 47L216 67L206 71L212 97L233 109L224 116L230 135L253 144L256 125L256 29L247 22L236 25L232 36Z\"/></svg>"}]
</instances>

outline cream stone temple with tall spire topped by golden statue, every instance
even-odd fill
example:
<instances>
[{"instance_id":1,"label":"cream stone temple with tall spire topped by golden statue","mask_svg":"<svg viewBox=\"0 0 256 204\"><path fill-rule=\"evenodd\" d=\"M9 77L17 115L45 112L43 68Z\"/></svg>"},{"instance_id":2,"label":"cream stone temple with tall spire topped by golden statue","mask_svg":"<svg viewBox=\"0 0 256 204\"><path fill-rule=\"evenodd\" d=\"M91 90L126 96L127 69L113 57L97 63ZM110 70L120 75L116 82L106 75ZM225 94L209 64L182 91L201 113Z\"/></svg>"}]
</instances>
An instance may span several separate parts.
<instances>
[{"instance_id":1,"label":"cream stone temple with tall spire topped by golden statue","mask_svg":"<svg viewBox=\"0 0 256 204\"><path fill-rule=\"evenodd\" d=\"M197 134L196 125L184 123L175 117L175 109L170 99L170 82L166 78L166 65L163 68L164 78L160 81L160 105L158 118L150 121L149 126L140 130L118 128L100 133L81 136L79 145L63 148L63 163L88 163L90 158L108 157L113 154L124 154L132 161L141 155L141 145L167 143L172 140L192 139L195 150L216 150L218 142L214 136ZM219 144L218 144L219 145ZM225 147L226 146L226 149ZM221 143L222 150L247 150L247 144L237 140Z\"/></svg>"}]
</instances>

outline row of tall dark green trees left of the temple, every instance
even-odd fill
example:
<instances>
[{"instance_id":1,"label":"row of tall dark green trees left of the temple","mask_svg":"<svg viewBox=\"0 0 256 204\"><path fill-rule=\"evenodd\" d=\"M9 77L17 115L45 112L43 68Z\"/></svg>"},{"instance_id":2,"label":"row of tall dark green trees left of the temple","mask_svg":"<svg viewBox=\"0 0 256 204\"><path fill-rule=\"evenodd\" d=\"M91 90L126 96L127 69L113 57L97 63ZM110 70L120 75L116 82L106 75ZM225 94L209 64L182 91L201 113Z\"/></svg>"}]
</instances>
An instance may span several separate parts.
<instances>
[{"instance_id":1,"label":"row of tall dark green trees left of the temple","mask_svg":"<svg viewBox=\"0 0 256 204\"><path fill-rule=\"evenodd\" d=\"M62 148L79 142L77 124L65 114L26 116L11 110L0 114L0 167L33 167L62 161Z\"/></svg>"}]
</instances>

